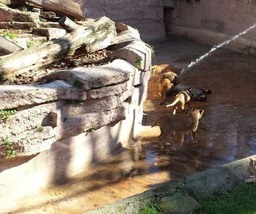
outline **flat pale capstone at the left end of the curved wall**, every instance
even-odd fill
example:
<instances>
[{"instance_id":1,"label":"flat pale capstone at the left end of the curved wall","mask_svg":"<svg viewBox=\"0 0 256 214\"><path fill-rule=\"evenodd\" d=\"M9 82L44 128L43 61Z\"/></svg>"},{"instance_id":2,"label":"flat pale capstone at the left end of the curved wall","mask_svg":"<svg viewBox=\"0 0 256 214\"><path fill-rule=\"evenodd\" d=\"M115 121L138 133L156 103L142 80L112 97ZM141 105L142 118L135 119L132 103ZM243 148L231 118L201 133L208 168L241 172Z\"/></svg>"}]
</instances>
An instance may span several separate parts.
<instances>
[{"instance_id":1,"label":"flat pale capstone at the left end of the curved wall","mask_svg":"<svg viewBox=\"0 0 256 214\"><path fill-rule=\"evenodd\" d=\"M86 100L86 92L64 81L44 85L6 85L0 87L0 109L38 105L55 100Z\"/></svg>"}]
</instances>

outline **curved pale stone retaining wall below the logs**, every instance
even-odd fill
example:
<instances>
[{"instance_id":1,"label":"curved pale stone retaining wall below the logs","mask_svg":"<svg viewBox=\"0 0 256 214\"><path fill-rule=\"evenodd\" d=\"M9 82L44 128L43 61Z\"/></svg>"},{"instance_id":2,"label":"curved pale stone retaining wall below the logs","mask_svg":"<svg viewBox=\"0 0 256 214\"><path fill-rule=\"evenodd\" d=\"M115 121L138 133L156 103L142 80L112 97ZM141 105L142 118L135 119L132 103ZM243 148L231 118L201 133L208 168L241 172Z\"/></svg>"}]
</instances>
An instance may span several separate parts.
<instances>
[{"instance_id":1,"label":"curved pale stone retaining wall below the logs","mask_svg":"<svg viewBox=\"0 0 256 214\"><path fill-rule=\"evenodd\" d=\"M105 65L53 72L47 84L0 87L1 211L136 137L151 70L151 49L137 37L116 45Z\"/></svg>"}]
</instances>

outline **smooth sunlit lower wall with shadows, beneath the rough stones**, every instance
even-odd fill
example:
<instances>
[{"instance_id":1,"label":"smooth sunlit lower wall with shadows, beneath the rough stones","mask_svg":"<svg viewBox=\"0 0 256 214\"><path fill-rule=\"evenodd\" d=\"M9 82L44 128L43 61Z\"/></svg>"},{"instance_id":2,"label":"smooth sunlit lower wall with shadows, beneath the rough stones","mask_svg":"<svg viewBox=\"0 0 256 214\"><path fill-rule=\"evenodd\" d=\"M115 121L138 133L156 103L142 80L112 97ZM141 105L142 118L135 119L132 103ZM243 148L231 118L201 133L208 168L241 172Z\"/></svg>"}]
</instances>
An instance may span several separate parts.
<instances>
[{"instance_id":1,"label":"smooth sunlit lower wall with shadows, beneath the rough stones","mask_svg":"<svg viewBox=\"0 0 256 214\"><path fill-rule=\"evenodd\" d=\"M141 89L146 95L147 87ZM93 163L107 158L118 142L125 147L140 130L143 112L142 105L136 107L135 103L126 102L125 106L126 119L113 126L104 126L87 136L81 133L60 140L50 150L35 156L1 159L0 213L15 209L19 198L90 170Z\"/></svg>"}]
</instances>

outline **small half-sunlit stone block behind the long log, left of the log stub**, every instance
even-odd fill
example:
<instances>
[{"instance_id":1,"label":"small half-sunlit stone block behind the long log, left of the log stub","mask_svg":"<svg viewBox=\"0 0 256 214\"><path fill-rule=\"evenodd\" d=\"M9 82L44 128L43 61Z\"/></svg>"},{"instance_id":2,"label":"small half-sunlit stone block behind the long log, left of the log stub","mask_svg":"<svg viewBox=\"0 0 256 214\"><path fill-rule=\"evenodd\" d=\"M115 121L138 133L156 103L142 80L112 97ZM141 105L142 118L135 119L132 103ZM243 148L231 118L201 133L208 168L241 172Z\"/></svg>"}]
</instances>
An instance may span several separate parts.
<instances>
[{"instance_id":1,"label":"small half-sunlit stone block behind the long log, left of the log stub","mask_svg":"<svg viewBox=\"0 0 256 214\"><path fill-rule=\"evenodd\" d=\"M35 28L33 33L47 37L48 40L59 39L66 34L66 30L59 28Z\"/></svg>"}]
</instances>

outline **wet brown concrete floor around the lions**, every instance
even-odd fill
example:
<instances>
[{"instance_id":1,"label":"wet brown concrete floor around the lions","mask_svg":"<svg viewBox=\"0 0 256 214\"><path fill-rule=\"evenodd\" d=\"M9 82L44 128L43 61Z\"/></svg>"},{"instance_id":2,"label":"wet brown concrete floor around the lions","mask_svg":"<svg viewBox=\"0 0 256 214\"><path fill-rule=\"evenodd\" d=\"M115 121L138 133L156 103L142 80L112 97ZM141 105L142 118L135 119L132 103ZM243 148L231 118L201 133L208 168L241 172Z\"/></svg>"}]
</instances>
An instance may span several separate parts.
<instances>
[{"instance_id":1,"label":"wet brown concrete floor around the lions","mask_svg":"<svg viewBox=\"0 0 256 214\"><path fill-rule=\"evenodd\" d=\"M171 63L182 69L210 46L169 38L154 42L153 64ZM213 93L206 102L191 102L205 113L199 122L197 144L179 135L171 147L161 150L156 143L160 115L171 113L158 105L158 87L151 79L144 105L143 130L129 149L119 148L104 163L55 186L37 197L21 200L17 212L26 214L82 214L109 202L155 188L163 183L256 154L256 58L221 49L181 77L183 86L206 86ZM172 97L166 103L170 103Z\"/></svg>"}]
</instances>

